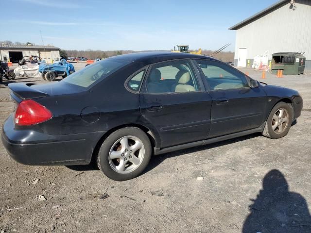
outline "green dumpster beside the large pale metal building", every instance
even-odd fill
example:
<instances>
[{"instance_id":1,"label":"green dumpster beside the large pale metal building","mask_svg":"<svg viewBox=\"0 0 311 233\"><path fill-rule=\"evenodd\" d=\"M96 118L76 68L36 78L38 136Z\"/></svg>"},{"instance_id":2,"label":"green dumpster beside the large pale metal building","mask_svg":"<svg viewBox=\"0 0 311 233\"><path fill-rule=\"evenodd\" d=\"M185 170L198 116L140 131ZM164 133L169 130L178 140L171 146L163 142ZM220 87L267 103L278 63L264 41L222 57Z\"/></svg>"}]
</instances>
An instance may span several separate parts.
<instances>
[{"instance_id":1,"label":"green dumpster beside the large pale metal building","mask_svg":"<svg viewBox=\"0 0 311 233\"><path fill-rule=\"evenodd\" d=\"M297 75L305 72L305 52L277 52L272 54L271 73L282 69L283 74Z\"/></svg>"}]
</instances>

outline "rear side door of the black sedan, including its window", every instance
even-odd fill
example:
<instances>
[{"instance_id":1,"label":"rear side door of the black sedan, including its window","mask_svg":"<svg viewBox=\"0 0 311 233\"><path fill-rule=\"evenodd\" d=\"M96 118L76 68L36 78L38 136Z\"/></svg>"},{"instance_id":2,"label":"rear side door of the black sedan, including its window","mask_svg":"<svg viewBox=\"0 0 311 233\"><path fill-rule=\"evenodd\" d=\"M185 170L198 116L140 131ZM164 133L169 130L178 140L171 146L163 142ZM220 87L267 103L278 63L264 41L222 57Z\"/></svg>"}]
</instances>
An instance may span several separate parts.
<instances>
[{"instance_id":1,"label":"rear side door of the black sedan, including its window","mask_svg":"<svg viewBox=\"0 0 311 233\"><path fill-rule=\"evenodd\" d=\"M161 137L161 148L207 138L212 99L190 60L149 68L139 94L141 115Z\"/></svg>"}]
</instances>

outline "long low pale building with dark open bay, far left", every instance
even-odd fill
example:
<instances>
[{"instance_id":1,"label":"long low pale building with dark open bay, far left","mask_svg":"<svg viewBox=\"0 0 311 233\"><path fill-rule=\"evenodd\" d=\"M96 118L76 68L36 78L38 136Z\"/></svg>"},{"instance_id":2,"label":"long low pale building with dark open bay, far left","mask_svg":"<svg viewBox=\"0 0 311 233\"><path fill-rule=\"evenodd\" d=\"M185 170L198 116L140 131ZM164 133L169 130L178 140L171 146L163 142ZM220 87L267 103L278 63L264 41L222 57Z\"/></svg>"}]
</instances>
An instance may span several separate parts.
<instances>
[{"instance_id":1,"label":"long low pale building with dark open bay, far left","mask_svg":"<svg viewBox=\"0 0 311 233\"><path fill-rule=\"evenodd\" d=\"M59 58L59 48L54 46L36 45L0 45L0 60L17 63L24 56L39 56L47 63Z\"/></svg>"}]
</instances>

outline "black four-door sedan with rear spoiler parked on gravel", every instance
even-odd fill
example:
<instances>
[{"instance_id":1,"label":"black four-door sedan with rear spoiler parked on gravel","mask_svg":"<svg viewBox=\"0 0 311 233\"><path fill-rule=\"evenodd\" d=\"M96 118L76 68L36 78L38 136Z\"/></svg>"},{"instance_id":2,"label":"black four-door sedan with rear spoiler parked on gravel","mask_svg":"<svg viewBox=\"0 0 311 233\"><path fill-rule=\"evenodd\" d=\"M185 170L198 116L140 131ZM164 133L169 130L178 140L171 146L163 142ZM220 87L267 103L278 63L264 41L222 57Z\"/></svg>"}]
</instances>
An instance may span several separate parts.
<instances>
[{"instance_id":1,"label":"black four-door sedan with rear spoiler parked on gravel","mask_svg":"<svg viewBox=\"0 0 311 233\"><path fill-rule=\"evenodd\" d=\"M10 83L14 113L2 142L27 165L85 165L113 180L138 176L162 154L261 132L285 136L300 116L295 90L185 53L111 57L57 83Z\"/></svg>"}]
</instances>

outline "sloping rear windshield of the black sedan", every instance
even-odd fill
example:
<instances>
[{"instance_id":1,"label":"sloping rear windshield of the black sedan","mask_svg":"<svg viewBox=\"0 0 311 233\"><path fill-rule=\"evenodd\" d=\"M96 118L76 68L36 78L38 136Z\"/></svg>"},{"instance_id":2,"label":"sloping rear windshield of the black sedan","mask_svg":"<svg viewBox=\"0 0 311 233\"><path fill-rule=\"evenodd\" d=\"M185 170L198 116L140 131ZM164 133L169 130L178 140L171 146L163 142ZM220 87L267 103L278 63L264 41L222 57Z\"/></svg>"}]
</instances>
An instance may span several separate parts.
<instances>
[{"instance_id":1,"label":"sloping rear windshield of the black sedan","mask_svg":"<svg viewBox=\"0 0 311 233\"><path fill-rule=\"evenodd\" d=\"M88 87L98 80L103 80L105 77L127 64L129 64L127 61L104 59L103 61L95 62L94 64L88 65L87 67L70 74L61 82Z\"/></svg>"}]
</instances>

